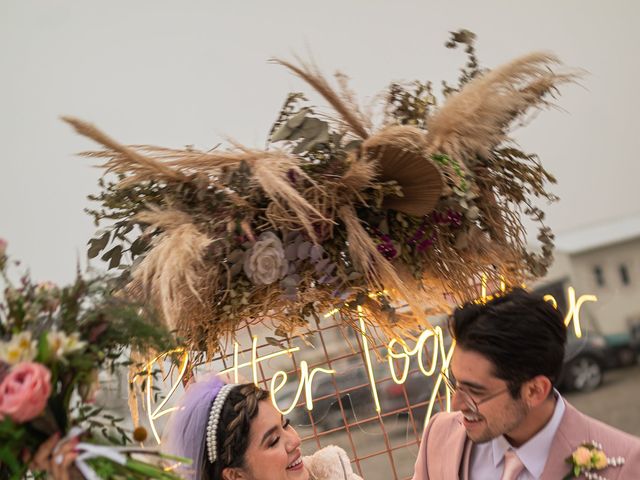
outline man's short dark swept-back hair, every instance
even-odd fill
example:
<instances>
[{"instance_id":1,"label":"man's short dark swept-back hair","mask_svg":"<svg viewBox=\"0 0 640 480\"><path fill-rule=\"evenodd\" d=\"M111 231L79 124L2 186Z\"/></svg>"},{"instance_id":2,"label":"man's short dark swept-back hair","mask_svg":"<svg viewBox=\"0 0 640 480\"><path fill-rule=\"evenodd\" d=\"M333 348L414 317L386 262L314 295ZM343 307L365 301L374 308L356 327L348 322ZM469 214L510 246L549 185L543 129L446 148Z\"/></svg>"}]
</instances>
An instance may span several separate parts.
<instances>
[{"instance_id":1,"label":"man's short dark swept-back hair","mask_svg":"<svg viewBox=\"0 0 640 480\"><path fill-rule=\"evenodd\" d=\"M486 303L467 303L453 313L449 329L464 350L485 356L512 397L538 375L558 381L567 328L560 312L541 296L514 289Z\"/></svg>"}]
</instances>

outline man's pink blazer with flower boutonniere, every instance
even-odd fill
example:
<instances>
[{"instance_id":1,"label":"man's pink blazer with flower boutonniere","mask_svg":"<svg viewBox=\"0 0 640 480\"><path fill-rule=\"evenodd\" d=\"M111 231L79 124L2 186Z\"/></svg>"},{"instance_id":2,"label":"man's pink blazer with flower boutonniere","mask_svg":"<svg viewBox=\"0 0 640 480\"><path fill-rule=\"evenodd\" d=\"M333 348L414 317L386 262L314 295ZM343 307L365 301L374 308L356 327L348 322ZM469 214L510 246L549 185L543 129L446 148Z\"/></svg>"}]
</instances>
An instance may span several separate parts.
<instances>
[{"instance_id":1,"label":"man's pink blazer with flower boutonniere","mask_svg":"<svg viewBox=\"0 0 640 480\"><path fill-rule=\"evenodd\" d=\"M569 472L565 459L581 443L596 441L602 444L607 457L625 458L621 467L598 471L601 476L607 480L640 480L640 439L580 413L566 401L565 404L540 479L561 480ZM422 436L413 480L469 478L470 448L465 448L468 440L461 418L462 414L455 412L438 413L431 419Z\"/></svg>"}]
</instances>

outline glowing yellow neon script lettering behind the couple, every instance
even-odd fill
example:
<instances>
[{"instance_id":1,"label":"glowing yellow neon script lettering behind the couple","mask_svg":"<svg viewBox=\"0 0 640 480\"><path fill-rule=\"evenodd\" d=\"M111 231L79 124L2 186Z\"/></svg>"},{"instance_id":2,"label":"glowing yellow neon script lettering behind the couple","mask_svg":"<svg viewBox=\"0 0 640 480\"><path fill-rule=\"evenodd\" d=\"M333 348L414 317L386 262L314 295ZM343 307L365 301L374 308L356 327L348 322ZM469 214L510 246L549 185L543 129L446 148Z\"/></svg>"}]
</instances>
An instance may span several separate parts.
<instances>
[{"instance_id":1,"label":"glowing yellow neon script lettering behind the couple","mask_svg":"<svg viewBox=\"0 0 640 480\"><path fill-rule=\"evenodd\" d=\"M488 298L490 298L486 296L486 290L484 288L483 288L482 297L479 299L479 301L486 301ZM580 309L582 308L584 303L596 302L597 298L594 295L581 295L580 297L576 298L576 292L573 287L569 287L567 290L567 293L568 293L567 295L568 309L565 315L564 322L567 327L569 327L569 325L573 323L576 336L580 338L582 336L582 328L580 325ZM551 302L552 305L555 308L557 308L558 302L552 295L545 295L544 299L546 301ZM326 316L327 317L331 316L334 313L336 312L329 312L327 313ZM362 341L363 360L364 360L364 364L367 372L367 377L369 380L369 385L371 388L371 395L372 395L375 411L377 413L380 413L381 411L380 400L378 397L378 390L376 387L376 379L375 379L375 374L373 369L373 363L371 361L371 355L369 352L369 339L367 334L367 327L366 327L366 322L364 317L364 311L360 306L358 307L357 333L360 335L361 341ZM428 366L425 365L425 360L424 360L424 351L425 351L425 345L427 344L427 342L431 343L430 345L431 348L430 349L427 348L427 351L429 350L431 351L431 357L430 357L430 362L428 362L429 363ZM442 329L438 326L436 326L433 329L425 330L424 332L422 332L418 337L418 339L416 340L416 343L413 347L410 347L407 344L407 342L401 338L392 338L386 344L389 373L391 375L391 378L396 384L400 385L406 381L409 374L410 360L411 358L416 356L417 356L417 362L418 362L418 367L420 369L420 372L425 377L431 377L433 375L436 375L433 389L431 392L431 397L426 406L427 411L425 416L425 425L429 422L429 419L431 418L431 415L433 413L433 408L438 399L438 392L442 384L442 376L440 375L440 372L444 372L445 374L448 373L449 364L451 362L453 352L455 351L455 346L456 346L455 340L452 340L451 345L449 346L449 349L446 350L445 337ZM258 366L261 362L264 362L272 358L280 357L283 355L290 356L293 353L298 352L299 350L300 350L299 347L292 347L292 348L282 349L277 352L270 353L268 355L260 356L258 354L258 338L254 336L252 338L251 359L249 361L239 363L239 345L238 345L238 342L234 342L233 364L230 368L227 368L222 372L220 372L220 374L230 375L232 376L234 382L238 383L239 370L244 368L250 368L252 381L254 384L258 385L258 381L259 381ZM182 353L178 378L175 380L175 382L171 386L167 396L162 400L162 402L156 408L153 408L153 405L151 402L153 365L158 361L164 360L167 355L172 353ZM396 366L394 365L394 361L401 362L400 372L397 371ZM439 363L440 363L440 368L438 369ZM187 371L188 364L189 364L189 353L184 351L183 349L176 349L176 350L162 353L147 364L147 369L146 369L147 374L145 379L146 411L147 411L147 418L151 426L151 431L153 432L153 435L156 441L158 442L158 444L160 444L160 437L156 429L155 421L161 416L166 415L167 413L170 413L176 409L176 407L166 408L166 409L164 407L169 401L169 399L175 393L175 390L178 387L179 383L181 383ZM294 398L291 401L291 404L289 406L287 406L286 408L281 408L281 406L278 404L276 396L277 396L277 393L281 391L284 388L284 386L289 382L289 376L287 372L283 370L276 371L271 378L271 382L269 386L271 401L273 405L276 407L276 409L280 411L283 415L289 414L298 404L300 397L304 392L305 407L308 410L313 410L312 385L313 385L313 379L315 375L319 373L326 374L326 375L335 375L336 371L332 369L325 369L325 368L313 368L310 370L307 362L305 360L302 360L300 362L300 380L296 388ZM446 411L451 411L451 395L452 395L452 392L449 390L448 386L446 386L445 384Z\"/></svg>"}]
</instances>

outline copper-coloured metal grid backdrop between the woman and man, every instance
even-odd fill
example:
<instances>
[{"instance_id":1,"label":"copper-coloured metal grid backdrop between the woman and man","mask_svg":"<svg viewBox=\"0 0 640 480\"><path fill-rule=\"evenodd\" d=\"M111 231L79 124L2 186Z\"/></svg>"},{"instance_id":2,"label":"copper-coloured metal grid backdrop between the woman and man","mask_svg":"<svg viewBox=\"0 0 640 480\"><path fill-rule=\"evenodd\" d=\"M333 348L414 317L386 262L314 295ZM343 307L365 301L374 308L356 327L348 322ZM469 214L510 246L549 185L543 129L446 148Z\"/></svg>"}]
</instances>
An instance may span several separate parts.
<instances>
[{"instance_id":1,"label":"copper-coloured metal grid backdrop between the woman and man","mask_svg":"<svg viewBox=\"0 0 640 480\"><path fill-rule=\"evenodd\" d=\"M213 370L232 379L237 375L240 382L255 380L267 390L274 375L276 383L281 383L286 374L288 379L274 398L283 411L295 404L287 417L302 438L303 454L338 445L349 455L354 471L366 480L410 479L429 404L434 413L445 405L445 387L436 384L442 355L436 359L437 344L426 342L421 352L393 359L396 377L406 368L406 379L398 383L389 368L388 342L375 329L367 327L363 335L357 326L343 325L331 316L321 319L304 337L289 340L274 338L272 329L253 325L237 332L235 342L223 345L222 354L206 363L194 362L193 367L197 374ZM415 341L407 343L415 349ZM287 353L290 349L295 351ZM432 364L434 360L438 365ZM425 369L434 373L425 375ZM300 388L304 370L311 381ZM170 384L179 383L177 372L165 378L165 385L156 380L153 389L166 392ZM439 391L432 397L434 387ZM306 408L306 388L313 399L312 410ZM173 397L180 394L181 388ZM172 401L175 398L166 405ZM157 420L159 432L163 420Z\"/></svg>"}]
</instances>

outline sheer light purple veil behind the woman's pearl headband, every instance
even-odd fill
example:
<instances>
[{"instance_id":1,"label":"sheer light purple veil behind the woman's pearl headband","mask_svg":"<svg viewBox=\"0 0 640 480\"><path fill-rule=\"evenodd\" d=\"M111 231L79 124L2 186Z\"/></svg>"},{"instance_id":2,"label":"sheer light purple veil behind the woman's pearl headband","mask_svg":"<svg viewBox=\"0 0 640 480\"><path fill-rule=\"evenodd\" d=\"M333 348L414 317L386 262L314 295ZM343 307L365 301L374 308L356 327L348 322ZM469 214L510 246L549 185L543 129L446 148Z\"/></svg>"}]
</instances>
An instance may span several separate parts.
<instances>
[{"instance_id":1,"label":"sheer light purple veil behind the woman's pearl headband","mask_svg":"<svg viewBox=\"0 0 640 480\"><path fill-rule=\"evenodd\" d=\"M207 375L190 384L162 435L162 451L193 460L191 466L179 469L179 474L190 480L199 480L205 465L207 445L205 431L213 400L225 385L216 375Z\"/></svg>"}]
</instances>

